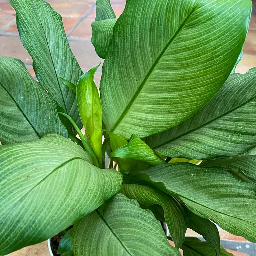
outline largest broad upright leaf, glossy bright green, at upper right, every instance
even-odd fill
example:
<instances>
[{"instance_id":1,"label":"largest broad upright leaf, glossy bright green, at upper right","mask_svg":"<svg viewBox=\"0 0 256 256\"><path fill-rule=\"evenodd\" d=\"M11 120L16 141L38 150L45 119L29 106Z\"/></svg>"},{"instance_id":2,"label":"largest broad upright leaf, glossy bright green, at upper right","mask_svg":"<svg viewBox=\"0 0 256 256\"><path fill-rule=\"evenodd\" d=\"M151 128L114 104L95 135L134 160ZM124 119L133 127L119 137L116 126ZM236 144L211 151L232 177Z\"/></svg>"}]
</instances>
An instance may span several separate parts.
<instances>
[{"instance_id":1,"label":"largest broad upright leaf, glossy bright green, at upper right","mask_svg":"<svg viewBox=\"0 0 256 256\"><path fill-rule=\"evenodd\" d=\"M103 122L129 139L169 129L202 108L242 50L250 0L129 0L100 81Z\"/></svg>"}]
</instances>

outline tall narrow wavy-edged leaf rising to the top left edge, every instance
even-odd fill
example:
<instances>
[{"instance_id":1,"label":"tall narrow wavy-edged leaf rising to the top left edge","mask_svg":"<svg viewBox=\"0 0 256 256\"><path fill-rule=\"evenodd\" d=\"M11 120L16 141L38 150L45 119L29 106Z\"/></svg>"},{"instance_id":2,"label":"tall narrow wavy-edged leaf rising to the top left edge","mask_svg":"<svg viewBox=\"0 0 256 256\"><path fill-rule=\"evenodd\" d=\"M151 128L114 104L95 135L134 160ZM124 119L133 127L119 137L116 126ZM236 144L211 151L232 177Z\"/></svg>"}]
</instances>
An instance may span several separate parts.
<instances>
[{"instance_id":1,"label":"tall narrow wavy-edged leaf rising to the top left edge","mask_svg":"<svg viewBox=\"0 0 256 256\"><path fill-rule=\"evenodd\" d=\"M83 75L68 44L60 14L44 0L10 0L16 12L20 39L33 59L40 84L82 128L76 94L60 77L77 84Z\"/></svg>"}]
</instances>

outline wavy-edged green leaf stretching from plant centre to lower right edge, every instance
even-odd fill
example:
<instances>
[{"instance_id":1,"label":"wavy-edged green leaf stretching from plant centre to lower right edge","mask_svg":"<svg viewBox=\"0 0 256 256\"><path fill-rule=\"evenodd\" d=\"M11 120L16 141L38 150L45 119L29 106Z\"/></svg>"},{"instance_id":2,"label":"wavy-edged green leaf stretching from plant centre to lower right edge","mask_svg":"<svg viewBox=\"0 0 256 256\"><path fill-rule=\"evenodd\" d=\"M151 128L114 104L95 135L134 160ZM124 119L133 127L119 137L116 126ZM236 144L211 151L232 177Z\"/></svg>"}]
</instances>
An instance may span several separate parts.
<instances>
[{"instance_id":1,"label":"wavy-edged green leaf stretching from plant centre to lower right edge","mask_svg":"<svg viewBox=\"0 0 256 256\"><path fill-rule=\"evenodd\" d=\"M256 242L255 184L218 168L189 163L160 164L129 175L178 198L196 215L228 232Z\"/></svg>"}]
</instances>

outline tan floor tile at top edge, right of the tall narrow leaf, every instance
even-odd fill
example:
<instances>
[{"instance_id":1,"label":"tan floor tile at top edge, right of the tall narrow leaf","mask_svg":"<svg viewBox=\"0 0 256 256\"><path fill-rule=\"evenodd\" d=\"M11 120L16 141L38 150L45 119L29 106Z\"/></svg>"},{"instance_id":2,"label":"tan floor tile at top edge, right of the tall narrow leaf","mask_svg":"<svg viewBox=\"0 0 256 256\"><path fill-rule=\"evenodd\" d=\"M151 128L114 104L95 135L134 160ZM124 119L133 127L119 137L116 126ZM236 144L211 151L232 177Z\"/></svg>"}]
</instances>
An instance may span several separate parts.
<instances>
[{"instance_id":1,"label":"tan floor tile at top edge, right of the tall narrow leaf","mask_svg":"<svg viewBox=\"0 0 256 256\"><path fill-rule=\"evenodd\" d=\"M83 17L92 7L94 3L80 3L71 1L47 0L52 8L66 17Z\"/></svg>"}]
</instances>

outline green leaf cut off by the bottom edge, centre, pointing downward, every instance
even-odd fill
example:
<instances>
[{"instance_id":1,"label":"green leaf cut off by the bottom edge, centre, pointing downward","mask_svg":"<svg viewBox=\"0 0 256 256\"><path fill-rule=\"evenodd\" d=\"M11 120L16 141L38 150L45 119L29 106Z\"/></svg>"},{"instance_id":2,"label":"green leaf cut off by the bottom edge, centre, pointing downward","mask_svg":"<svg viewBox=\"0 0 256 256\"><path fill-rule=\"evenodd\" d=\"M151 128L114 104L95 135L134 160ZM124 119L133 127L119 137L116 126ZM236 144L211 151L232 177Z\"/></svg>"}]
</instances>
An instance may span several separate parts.
<instances>
[{"instance_id":1,"label":"green leaf cut off by the bottom edge, centre, pointing downward","mask_svg":"<svg viewBox=\"0 0 256 256\"><path fill-rule=\"evenodd\" d=\"M76 256L180 256L152 212L121 193L75 223L71 244Z\"/></svg>"}]
</instances>

